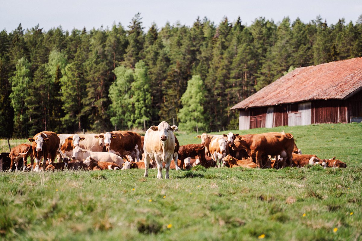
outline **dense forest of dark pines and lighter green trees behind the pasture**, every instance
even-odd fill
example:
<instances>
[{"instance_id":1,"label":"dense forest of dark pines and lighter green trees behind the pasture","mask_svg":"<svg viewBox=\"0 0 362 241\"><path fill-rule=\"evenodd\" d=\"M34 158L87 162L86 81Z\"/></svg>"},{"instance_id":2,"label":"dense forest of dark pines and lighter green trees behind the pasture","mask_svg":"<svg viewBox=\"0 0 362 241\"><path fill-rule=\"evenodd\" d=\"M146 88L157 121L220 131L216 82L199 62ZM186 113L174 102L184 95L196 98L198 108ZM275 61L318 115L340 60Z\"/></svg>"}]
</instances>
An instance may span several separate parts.
<instances>
[{"instance_id":1,"label":"dense forest of dark pines and lighter green trees behind the pasture","mask_svg":"<svg viewBox=\"0 0 362 241\"><path fill-rule=\"evenodd\" d=\"M283 74L362 56L362 15L327 24L285 17L197 18L148 30L129 25L0 32L0 137L42 130L143 129L165 120L187 132L237 129L230 108ZM270 93L272 94L272 93Z\"/></svg>"}]
</instances>

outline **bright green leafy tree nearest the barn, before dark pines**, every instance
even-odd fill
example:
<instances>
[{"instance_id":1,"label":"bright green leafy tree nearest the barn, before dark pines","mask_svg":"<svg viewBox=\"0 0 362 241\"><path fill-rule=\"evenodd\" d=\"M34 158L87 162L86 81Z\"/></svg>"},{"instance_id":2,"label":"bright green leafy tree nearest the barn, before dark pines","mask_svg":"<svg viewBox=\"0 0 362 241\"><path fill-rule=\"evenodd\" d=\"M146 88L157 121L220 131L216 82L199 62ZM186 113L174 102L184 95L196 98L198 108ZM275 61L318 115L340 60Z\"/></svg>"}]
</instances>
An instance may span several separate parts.
<instances>
[{"instance_id":1,"label":"bright green leafy tree nearest the barn, before dark pines","mask_svg":"<svg viewBox=\"0 0 362 241\"><path fill-rule=\"evenodd\" d=\"M178 113L181 130L195 132L198 130L207 130L207 122L203 104L205 102L206 91L204 83L200 76L192 76L187 82L187 89L181 97L182 109Z\"/></svg>"}]
</instances>

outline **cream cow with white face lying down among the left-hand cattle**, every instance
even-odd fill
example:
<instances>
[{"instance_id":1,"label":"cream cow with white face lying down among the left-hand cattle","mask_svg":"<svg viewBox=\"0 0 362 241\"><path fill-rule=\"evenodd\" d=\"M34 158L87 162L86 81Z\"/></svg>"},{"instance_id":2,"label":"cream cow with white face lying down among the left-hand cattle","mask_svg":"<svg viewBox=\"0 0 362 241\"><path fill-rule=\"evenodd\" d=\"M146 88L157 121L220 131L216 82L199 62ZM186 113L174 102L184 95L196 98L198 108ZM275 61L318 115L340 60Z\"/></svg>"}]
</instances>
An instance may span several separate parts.
<instances>
[{"instance_id":1,"label":"cream cow with white face lying down among the left-hand cattle","mask_svg":"<svg viewBox=\"0 0 362 241\"><path fill-rule=\"evenodd\" d=\"M73 160L83 161L88 156L97 160L98 162L113 162L119 166L121 166L124 163L123 158L114 153L87 151L82 149L80 146L74 147L73 156L72 156Z\"/></svg>"}]
</instances>

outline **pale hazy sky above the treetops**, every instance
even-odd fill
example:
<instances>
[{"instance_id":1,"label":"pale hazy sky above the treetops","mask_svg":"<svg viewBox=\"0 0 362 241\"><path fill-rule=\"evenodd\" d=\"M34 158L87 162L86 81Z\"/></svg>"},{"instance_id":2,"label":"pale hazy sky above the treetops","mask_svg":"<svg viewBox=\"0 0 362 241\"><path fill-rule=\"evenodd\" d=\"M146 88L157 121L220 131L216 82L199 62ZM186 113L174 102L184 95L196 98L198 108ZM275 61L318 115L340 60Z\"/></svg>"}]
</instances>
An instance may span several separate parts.
<instances>
[{"instance_id":1,"label":"pale hazy sky above the treetops","mask_svg":"<svg viewBox=\"0 0 362 241\"><path fill-rule=\"evenodd\" d=\"M251 25L255 18L273 19L275 23L297 17L305 23L320 15L328 25L339 19L355 23L362 14L362 0L0 0L0 30L11 32L21 23L23 29L39 24L49 30L62 26L63 30L87 30L111 27L119 22L127 28L132 17L140 12L147 31L153 22L160 28L168 21L192 26L199 16L218 25L224 16L235 22Z\"/></svg>"}]
</instances>

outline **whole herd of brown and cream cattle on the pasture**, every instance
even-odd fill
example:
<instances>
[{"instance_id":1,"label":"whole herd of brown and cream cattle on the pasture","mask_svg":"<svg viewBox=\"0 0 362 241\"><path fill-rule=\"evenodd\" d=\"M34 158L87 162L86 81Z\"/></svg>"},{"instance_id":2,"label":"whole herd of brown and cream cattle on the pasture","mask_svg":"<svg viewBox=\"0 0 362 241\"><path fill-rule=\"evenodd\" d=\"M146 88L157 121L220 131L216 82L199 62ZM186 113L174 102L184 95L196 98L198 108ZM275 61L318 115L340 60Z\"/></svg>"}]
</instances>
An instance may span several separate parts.
<instances>
[{"instance_id":1,"label":"whole herd of brown and cream cattle on the pasture","mask_svg":"<svg viewBox=\"0 0 362 241\"><path fill-rule=\"evenodd\" d=\"M162 169L190 169L204 167L284 168L304 167L307 164L324 168L345 168L340 160L319 159L316 155L302 155L295 145L293 135L284 132L239 135L232 132L223 135L197 135L201 144L180 146L173 132L176 125L163 121L151 126L144 137L130 131L114 131L102 134L56 134L43 131L30 144L20 144L9 154L17 171L23 158L23 171L39 170L104 170L157 168L157 178ZM27 159L30 156L30 164ZM57 158L57 162L55 162ZM35 163L34 163L35 159ZM139 162L143 159L143 162ZM42 163L40 162L42 160ZM172 160L174 160L172 162Z\"/></svg>"}]
</instances>

